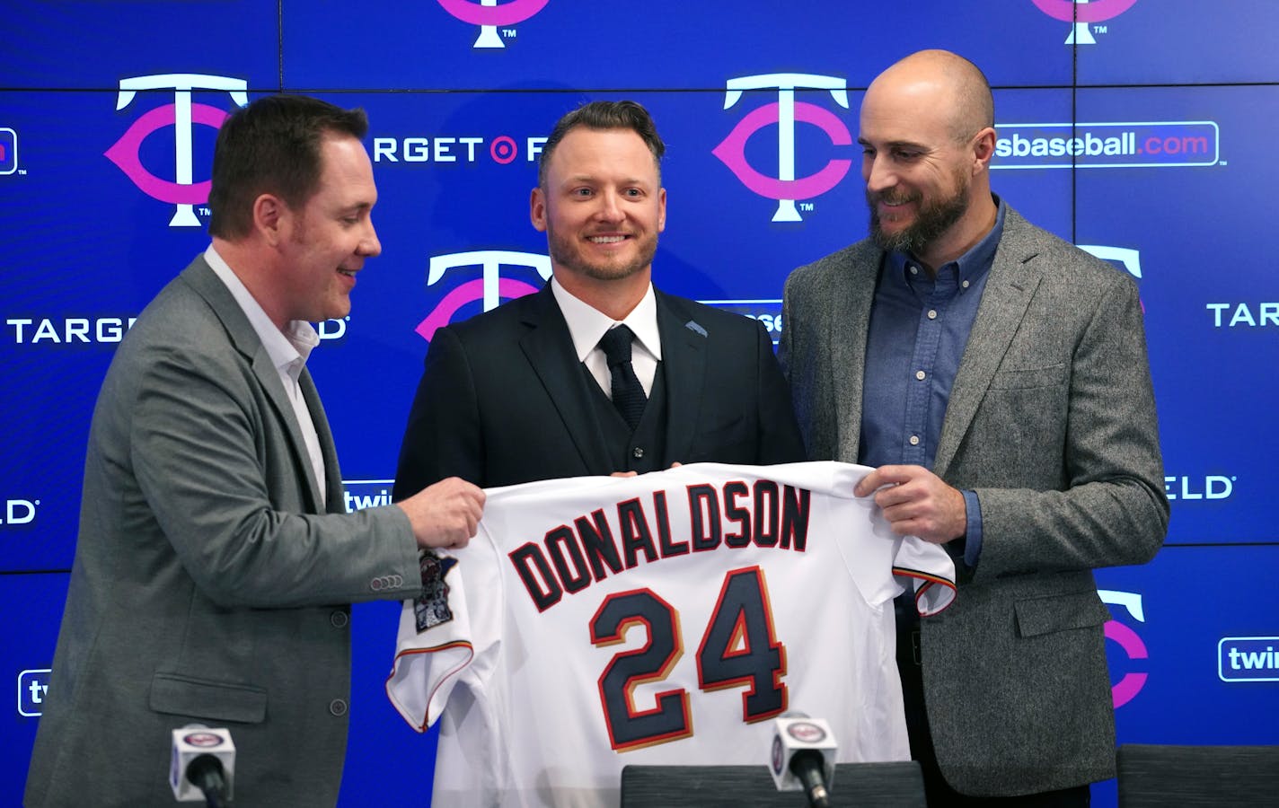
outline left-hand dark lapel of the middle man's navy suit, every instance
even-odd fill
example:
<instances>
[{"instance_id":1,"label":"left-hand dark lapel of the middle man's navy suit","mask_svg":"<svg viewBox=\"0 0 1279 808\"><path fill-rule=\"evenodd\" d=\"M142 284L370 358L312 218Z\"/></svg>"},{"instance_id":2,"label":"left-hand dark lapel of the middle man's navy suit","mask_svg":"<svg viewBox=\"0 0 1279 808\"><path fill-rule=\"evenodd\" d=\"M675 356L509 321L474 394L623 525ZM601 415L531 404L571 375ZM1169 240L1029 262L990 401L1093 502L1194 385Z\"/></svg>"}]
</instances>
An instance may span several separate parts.
<instances>
[{"instance_id":1,"label":"left-hand dark lapel of the middle man's navy suit","mask_svg":"<svg viewBox=\"0 0 1279 808\"><path fill-rule=\"evenodd\" d=\"M528 300L523 316L528 332L519 340L519 348L541 380L551 404L559 410L564 430L577 446L587 472L610 474L616 469L609 463L591 407L591 390L586 386L586 373L582 371L582 363L577 361L573 336L555 303L550 284L542 286L542 290Z\"/></svg>"}]
</instances>

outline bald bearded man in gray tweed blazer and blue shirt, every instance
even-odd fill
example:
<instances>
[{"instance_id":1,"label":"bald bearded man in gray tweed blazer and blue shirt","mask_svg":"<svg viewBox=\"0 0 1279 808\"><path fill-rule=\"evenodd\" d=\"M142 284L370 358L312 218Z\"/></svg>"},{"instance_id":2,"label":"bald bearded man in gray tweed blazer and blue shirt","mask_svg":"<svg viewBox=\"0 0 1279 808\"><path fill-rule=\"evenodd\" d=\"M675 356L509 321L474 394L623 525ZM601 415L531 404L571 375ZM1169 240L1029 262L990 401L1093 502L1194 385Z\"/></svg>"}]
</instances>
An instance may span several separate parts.
<instances>
[{"instance_id":1,"label":"bald bearded man in gray tweed blazer and blue shirt","mask_svg":"<svg viewBox=\"0 0 1279 808\"><path fill-rule=\"evenodd\" d=\"M954 54L875 79L872 237L790 275L781 359L810 458L875 467L856 493L961 570L945 614L898 610L929 804L1086 805L1114 776L1092 569L1168 527L1155 401L1136 284L991 194L993 127Z\"/></svg>"}]
</instances>

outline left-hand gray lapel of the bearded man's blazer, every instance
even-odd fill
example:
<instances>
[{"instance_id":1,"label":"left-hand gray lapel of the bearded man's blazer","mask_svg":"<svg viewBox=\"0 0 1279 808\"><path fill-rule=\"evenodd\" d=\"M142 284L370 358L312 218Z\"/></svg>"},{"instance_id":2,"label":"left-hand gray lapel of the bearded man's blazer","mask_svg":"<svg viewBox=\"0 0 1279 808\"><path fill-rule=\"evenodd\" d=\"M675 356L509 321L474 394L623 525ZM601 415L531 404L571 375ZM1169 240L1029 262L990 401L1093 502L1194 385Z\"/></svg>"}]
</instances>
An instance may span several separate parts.
<instances>
[{"instance_id":1,"label":"left-hand gray lapel of the bearded man's blazer","mask_svg":"<svg viewBox=\"0 0 1279 808\"><path fill-rule=\"evenodd\" d=\"M866 364L866 338L875 302L875 281L884 253L868 245L851 256L848 279L830 290L830 355L834 368L836 458L858 460L862 433L862 381Z\"/></svg>"}]
</instances>

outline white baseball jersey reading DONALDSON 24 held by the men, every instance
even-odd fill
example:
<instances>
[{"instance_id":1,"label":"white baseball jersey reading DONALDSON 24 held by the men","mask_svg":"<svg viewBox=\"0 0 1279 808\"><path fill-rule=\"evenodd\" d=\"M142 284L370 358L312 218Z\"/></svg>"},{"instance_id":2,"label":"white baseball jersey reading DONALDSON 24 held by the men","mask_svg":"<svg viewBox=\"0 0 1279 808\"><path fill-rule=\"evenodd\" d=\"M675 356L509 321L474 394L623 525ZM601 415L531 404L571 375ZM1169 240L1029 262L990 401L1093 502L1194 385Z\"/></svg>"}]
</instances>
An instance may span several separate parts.
<instances>
[{"instance_id":1,"label":"white baseball jersey reading DONALDSON 24 held by the men","mask_svg":"<svg viewBox=\"0 0 1279 808\"><path fill-rule=\"evenodd\" d=\"M423 560L386 692L443 717L439 805L615 805L622 767L764 766L771 719L830 722L840 762L909 759L893 598L954 597L894 536L866 467L701 463L492 488L464 550Z\"/></svg>"}]
</instances>

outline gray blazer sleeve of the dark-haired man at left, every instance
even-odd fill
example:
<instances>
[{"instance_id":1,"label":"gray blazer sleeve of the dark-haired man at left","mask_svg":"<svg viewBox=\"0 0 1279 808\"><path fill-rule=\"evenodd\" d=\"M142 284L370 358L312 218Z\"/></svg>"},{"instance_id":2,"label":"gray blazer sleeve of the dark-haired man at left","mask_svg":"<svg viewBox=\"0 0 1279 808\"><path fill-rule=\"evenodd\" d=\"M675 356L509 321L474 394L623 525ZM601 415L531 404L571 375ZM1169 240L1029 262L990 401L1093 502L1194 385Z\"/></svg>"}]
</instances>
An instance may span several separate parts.
<instances>
[{"instance_id":1,"label":"gray blazer sleeve of the dark-haired man at left","mask_svg":"<svg viewBox=\"0 0 1279 808\"><path fill-rule=\"evenodd\" d=\"M123 437L137 486L124 496L141 501L120 508L137 532L159 527L196 586L221 606L416 594L408 518L395 506L303 513L307 483L286 427L252 368L224 354L234 350L153 346L138 359L136 381L106 404L129 412Z\"/></svg>"}]
</instances>

